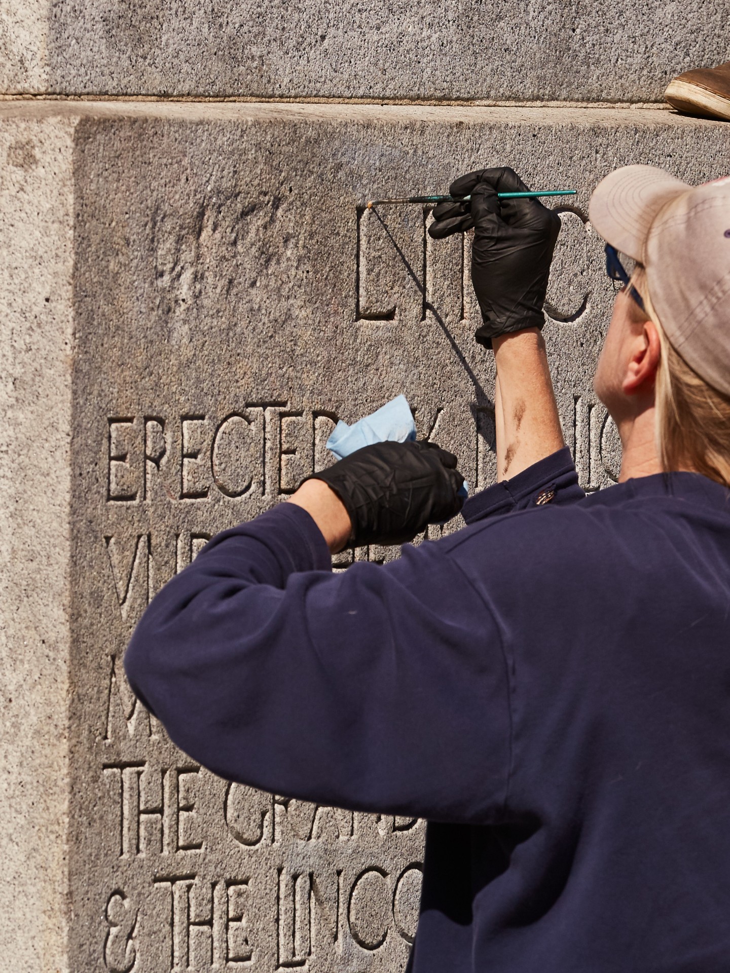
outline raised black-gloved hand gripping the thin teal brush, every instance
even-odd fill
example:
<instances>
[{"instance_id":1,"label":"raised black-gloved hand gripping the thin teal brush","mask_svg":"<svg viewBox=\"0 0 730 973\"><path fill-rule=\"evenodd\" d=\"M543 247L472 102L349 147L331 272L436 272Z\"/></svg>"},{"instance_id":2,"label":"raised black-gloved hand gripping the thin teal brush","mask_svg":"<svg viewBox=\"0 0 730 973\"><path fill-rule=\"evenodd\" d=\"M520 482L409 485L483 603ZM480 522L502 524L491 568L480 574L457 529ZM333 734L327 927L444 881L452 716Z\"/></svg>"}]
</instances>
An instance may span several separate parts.
<instances>
[{"instance_id":1,"label":"raised black-gloved hand gripping the thin teal brush","mask_svg":"<svg viewBox=\"0 0 730 973\"><path fill-rule=\"evenodd\" d=\"M492 347L497 335L542 328L550 262L561 228L557 213L538 199L498 199L497 193L529 192L508 167L479 169L449 187L465 202L440 202L428 233L434 239L474 227L471 282L484 324L474 337Z\"/></svg>"}]
</instances>

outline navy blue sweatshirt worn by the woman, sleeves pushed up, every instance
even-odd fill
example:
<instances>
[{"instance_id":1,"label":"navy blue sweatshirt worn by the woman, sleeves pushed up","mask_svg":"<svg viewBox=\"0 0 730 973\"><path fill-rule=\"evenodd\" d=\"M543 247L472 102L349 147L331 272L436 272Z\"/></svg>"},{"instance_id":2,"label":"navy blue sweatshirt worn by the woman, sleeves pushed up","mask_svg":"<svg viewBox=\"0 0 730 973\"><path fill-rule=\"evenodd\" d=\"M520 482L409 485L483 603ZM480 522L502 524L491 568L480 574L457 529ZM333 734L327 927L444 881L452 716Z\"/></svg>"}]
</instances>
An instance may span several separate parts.
<instances>
[{"instance_id":1,"label":"navy blue sweatshirt worn by the woman, sleeves pushed up","mask_svg":"<svg viewBox=\"0 0 730 973\"><path fill-rule=\"evenodd\" d=\"M129 682L216 774L428 820L413 973L730 970L730 491L567 450L332 574L280 504L157 595Z\"/></svg>"}]
</instances>

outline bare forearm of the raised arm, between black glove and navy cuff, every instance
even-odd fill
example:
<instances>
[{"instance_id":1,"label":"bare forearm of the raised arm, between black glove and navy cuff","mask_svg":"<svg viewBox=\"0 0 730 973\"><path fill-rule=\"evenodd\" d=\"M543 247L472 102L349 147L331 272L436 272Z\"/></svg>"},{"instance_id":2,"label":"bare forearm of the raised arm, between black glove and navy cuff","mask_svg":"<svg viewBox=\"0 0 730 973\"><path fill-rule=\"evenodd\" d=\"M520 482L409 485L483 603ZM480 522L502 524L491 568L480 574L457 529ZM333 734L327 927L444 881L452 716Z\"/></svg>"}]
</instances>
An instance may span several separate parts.
<instances>
[{"instance_id":1,"label":"bare forearm of the raised arm, between black glove and navy cuff","mask_svg":"<svg viewBox=\"0 0 730 973\"><path fill-rule=\"evenodd\" d=\"M545 342L536 328L493 338L497 476L508 480L565 446Z\"/></svg>"}]
</instances>

